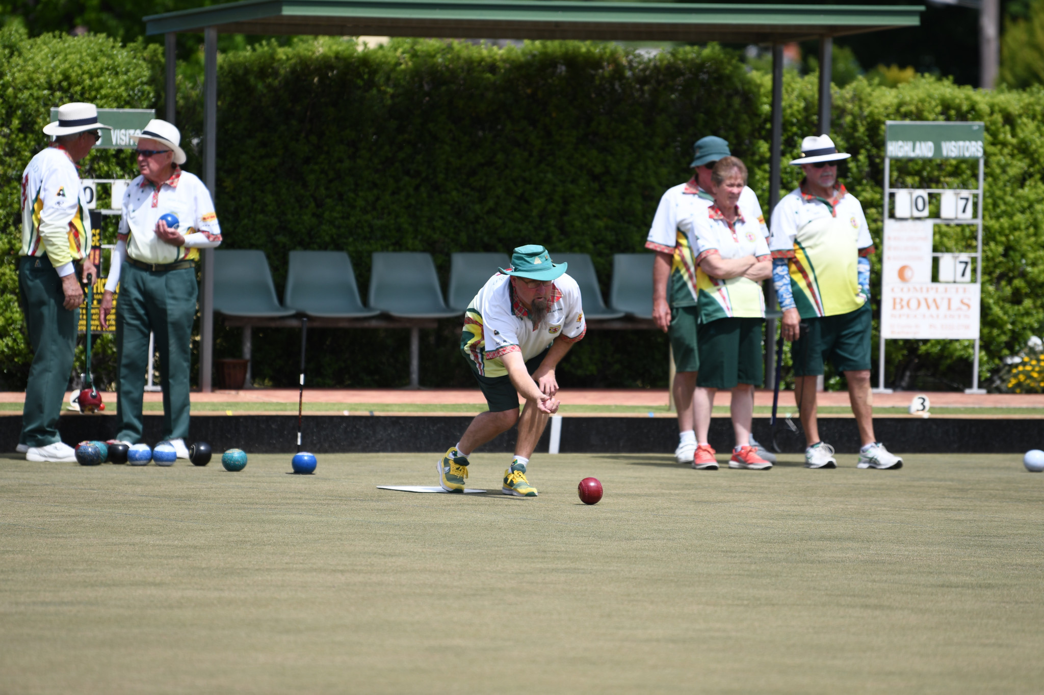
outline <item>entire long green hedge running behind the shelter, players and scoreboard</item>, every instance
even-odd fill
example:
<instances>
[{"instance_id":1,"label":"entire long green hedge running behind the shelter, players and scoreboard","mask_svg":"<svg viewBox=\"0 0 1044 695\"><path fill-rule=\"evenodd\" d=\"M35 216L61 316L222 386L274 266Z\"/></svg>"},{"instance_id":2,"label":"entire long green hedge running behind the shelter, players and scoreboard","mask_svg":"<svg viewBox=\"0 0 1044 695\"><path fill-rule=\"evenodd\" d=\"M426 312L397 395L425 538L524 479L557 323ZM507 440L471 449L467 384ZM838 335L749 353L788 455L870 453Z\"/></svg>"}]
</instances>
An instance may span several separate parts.
<instances>
[{"instance_id":1,"label":"entire long green hedge running behind the shelter, players and scoreboard","mask_svg":"<svg viewBox=\"0 0 1044 695\"><path fill-rule=\"evenodd\" d=\"M10 114L7 122L20 114L35 119L19 129L20 149L9 140L4 144L11 192L24 163L42 146L34 133L47 106L72 98L123 106L156 101L159 55L140 46L121 48L99 38L27 41L10 29L0 43L5 67L19 60L56 66L3 71L0 108ZM91 71L97 66L109 81L89 81L93 91L64 86L87 71L73 66L85 65ZM14 86L15 79L28 86ZM661 194L688 177L691 143L708 133L730 141L767 203L768 78L748 72L716 46L645 58L580 43L500 50L400 40L360 52L351 41L296 40L222 54L219 81L217 209L224 245L264 249L280 291L292 249L348 251L365 293L373 251L429 251L445 287L453 251L508 251L532 242L591 253L608 291L612 254L642 250ZM187 144L201 135L198 86L183 85L180 93L179 125ZM35 95L31 105L23 103L29 92ZM814 130L815 111L815 77L788 74L785 159ZM998 373L1001 357L1044 326L1042 115L1040 89L981 92L918 78L898 89L857 79L834 90L832 135L853 153L841 176L862 201L878 242L884 121L987 123L983 377ZM102 175L122 163L119 157L95 153L88 168ZM112 171L125 173L126 165ZM190 147L187 169L200 172L200 165ZM969 176L959 163L898 169L903 185L934 183L940 171L951 184ZM799 172L784 167L783 173L786 192ZM17 237L14 213L10 219ZM956 250L967 241L954 228L938 233L941 248ZM17 241L5 243L8 253L17 252ZM5 289L14 288L13 268L5 263L0 269ZM0 320L15 328L9 295ZM470 383L456 354L458 330L447 321L422 332L423 383ZM0 359L13 384L26 364L19 336L6 330L0 337L6 341ZM315 330L309 340L314 386L396 387L407 380L406 331ZM294 330L257 330L256 376L292 384L296 341ZM219 328L218 356L238 351L239 330ZM652 331L591 331L560 375L572 386L662 386L666 352L664 337ZM889 342L887 377L906 388L964 387L970 361L969 342Z\"/></svg>"}]
</instances>

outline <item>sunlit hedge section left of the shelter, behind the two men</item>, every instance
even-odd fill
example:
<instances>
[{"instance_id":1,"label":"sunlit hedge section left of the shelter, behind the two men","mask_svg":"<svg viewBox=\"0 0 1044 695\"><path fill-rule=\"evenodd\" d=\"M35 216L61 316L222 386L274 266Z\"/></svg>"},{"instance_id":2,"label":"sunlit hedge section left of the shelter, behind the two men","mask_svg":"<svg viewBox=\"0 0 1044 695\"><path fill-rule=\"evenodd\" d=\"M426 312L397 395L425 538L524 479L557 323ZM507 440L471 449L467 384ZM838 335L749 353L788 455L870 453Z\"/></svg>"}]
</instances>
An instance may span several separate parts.
<instances>
[{"instance_id":1,"label":"sunlit hedge section left of the shelter, behind the two men","mask_svg":"<svg viewBox=\"0 0 1044 695\"><path fill-rule=\"evenodd\" d=\"M0 199L6 201L0 234L0 388L23 389L32 362L18 306L19 198L25 166L49 141L41 128L53 106L69 101L151 108L162 69L158 46L121 46L102 35L30 40L18 23L0 29ZM123 150L97 150L81 164L84 178L120 178L134 171L133 155ZM100 355L109 351L108 342L99 346Z\"/></svg>"}]
</instances>

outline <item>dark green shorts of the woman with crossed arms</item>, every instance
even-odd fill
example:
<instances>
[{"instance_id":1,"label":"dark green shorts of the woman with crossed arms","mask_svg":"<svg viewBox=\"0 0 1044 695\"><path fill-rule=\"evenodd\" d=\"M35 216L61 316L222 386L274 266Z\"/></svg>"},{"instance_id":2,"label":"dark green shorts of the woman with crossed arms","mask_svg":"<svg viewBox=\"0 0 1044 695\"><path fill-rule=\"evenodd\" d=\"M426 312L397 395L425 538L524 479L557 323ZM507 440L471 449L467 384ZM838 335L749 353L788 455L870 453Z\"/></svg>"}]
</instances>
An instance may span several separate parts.
<instances>
[{"instance_id":1,"label":"dark green shorts of the woman with crossed arms","mask_svg":"<svg viewBox=\"0 0 1044 695\"><path fill-rule=\"evenodd\" d=\"M740 383L761 386L765 351L761 344L764 319L717 319L699 324L699 376L705 389L733 389Z\"/></svg>"}]
</instances>

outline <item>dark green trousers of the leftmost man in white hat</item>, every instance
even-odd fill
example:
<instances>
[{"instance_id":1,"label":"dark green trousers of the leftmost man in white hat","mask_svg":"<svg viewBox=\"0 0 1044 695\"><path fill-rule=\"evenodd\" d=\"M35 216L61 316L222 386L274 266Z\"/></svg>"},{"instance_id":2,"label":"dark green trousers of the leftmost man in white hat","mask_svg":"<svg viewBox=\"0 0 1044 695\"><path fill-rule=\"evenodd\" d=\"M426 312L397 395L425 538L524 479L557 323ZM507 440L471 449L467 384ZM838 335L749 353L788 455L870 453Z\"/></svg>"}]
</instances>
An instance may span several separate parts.
<instances>
[{"instance_id":1,"label":"dark green trousers of the leftmost man in white hat","mask_svg":"<svg viewBox=\"0 0 1044 695\"><path fill-rule=\"evenodd\" d=\"M47 446L62 441L58 415L76 353L79 309L70 312L62 306L65 301L62 278L46 255L22 256L18 290L32 346L19 444Z\"/></svg>"}]
</instances>

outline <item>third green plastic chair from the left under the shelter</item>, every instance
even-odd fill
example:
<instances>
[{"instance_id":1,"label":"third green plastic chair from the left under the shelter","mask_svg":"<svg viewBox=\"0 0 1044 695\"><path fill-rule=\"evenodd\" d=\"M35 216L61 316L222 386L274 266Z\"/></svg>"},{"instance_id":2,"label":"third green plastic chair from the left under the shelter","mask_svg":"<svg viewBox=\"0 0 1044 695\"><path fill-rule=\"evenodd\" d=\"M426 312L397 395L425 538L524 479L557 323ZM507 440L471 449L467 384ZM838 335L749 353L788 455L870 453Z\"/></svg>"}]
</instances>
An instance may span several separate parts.
<instances>
[{"instance_id":1,"label":"third green plastic chair from the left under the shelter","mask_svg":"<svg viewBox=\"0 0 1044 695\"><path fill-rule=\"evenodd\" d=\"M448 319L461 314L443 301L431 254L411 251L374 253L370 307L400 319Z\"/></svg>"}]
</instances>

